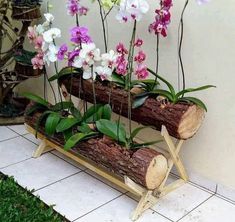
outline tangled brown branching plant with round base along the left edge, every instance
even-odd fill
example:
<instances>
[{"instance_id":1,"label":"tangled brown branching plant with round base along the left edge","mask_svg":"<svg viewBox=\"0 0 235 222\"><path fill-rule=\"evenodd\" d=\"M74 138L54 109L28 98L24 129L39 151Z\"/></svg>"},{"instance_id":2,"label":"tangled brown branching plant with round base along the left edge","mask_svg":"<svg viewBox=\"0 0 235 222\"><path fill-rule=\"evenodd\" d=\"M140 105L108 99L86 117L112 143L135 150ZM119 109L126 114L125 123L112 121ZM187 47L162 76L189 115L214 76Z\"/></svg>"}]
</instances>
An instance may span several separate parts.
<instances>
[{"instance_id":1,"label":"tangled brown branching plant with round base along the left edge","mask_svg":"<svg viewBox=\"0 0 235 222\"><path fill-rule=\"evenodd\" d=\"M24 110L29 103L29 100L17 95L14 88L44 71L33 69L30 60L34 53L23 49L31 20L20 19L22 25L12 24L9 18L11 3L10 0L3 0L0 3L0 122L5 125L23 123ZM19 4L19 1L15 1L15 4L17 3Z\"/></svg>"}]
</instances>

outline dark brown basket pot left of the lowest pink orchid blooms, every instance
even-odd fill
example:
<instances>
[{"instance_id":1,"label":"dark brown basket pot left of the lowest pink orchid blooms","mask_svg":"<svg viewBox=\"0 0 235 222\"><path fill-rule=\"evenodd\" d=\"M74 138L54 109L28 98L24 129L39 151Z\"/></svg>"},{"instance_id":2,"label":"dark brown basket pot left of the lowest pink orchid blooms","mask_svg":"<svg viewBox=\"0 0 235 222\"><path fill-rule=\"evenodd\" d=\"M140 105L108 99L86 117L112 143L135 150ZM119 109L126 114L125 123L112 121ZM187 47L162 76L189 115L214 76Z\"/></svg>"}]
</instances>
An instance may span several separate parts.
<instances>
[{"instance_id":1,"label":"dark brown basket pot left of the lowest pink orchid blooms","mask_svg":"<svg viewBox=\"0 0 235 222\"><path fill-rule=\"evenodd\" d=\"M25 78L37 78L46 72L45 68L43 69L34 69L32 65L23 64L16 61L15 64L15 72L18 76L22 76Z\"/></svg>"}]
</instances>

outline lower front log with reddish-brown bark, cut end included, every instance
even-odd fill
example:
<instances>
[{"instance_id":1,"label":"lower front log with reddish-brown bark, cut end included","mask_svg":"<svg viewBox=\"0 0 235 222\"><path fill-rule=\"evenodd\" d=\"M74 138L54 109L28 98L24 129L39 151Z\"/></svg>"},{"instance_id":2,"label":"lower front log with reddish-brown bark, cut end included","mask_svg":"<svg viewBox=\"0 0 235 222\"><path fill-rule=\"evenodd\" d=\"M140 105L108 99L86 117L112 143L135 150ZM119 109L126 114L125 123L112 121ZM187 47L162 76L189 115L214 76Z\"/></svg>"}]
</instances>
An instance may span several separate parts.
<instances>
[{"instance_id":1,"label":"lower front log with reddish-brown bark, cut end included","mask_svg":"<svg viewBox=\"0 0 235 222\"><path fill-rule=\"evenodd\" d=\"M35 113L33 116L25 116L25 123L35 129L40 115ZM39 131L45 135L43 127L40 127ZM47 139L61 147L64 146L61 134ZM167 159L163 154L146 147L129 150L107 137L80 142L68 152L73 155L80 154L119 177L128 176L149 190L161 185L168 169Z\"/></svg>"}]
</instances>

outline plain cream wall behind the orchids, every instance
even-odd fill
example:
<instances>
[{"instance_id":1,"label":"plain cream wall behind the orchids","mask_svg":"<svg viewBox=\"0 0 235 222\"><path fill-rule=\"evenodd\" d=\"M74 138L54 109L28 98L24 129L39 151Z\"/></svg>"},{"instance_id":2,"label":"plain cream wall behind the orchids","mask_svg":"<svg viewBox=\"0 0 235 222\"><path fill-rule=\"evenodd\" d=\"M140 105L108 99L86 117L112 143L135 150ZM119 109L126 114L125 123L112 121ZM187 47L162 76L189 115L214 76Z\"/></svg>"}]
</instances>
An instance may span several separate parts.
<instances>
[{"instance_id":1,"label":"plain cream wall behind the orchids","mask_svg":"<svg viewBox=\"0 0 235 222\"><path fill-rule=\"evenodd\" d=\"M60 1L65 5L66 1ZM89 8L89 14L82 17L80 23L88 26L96 46L104 49L98 4L90 1L82 2ZM158 7L159 1L149 0L148 2L150 11L138 24L137 36L145 42L143 49L148 55L147 65L154 68L156 36L149 34L148 25L153 21L154 10ZM66 7L63 7L62 3L58 4L58 0L51 0L50 3L54 6L51 10L55 16L53 25L62 31L62 38L57 40L61 45L70 39L68 30L74 26L74 18L67 15ZM178 84L177 33L184 3L184 0L173 1L172 23L168 29L168 37L160 39L159 73L167 77L176 87ZM46 11L46 2L43 3L42 10ZM202 6L190 0L185 12L182 47L187 87L208 83L217 86L215 90L195 93L207 104L208 113L197 135L185 143L183 161L192 179L207 178L233 189L235 189L235 176L232 173L235 167L234 10L233 0L227 0L226 3L211 0ZM109 16L109 49L115 48L120 39L128 44L131 37L132 24L120 25L115 19L115 14L116 11L113 10ZM53 65L49 67L48 74L54 74ZM42 94L43 80L29 80L19 88L19 91ZM151 134L145 131L141 137L148 135L148 140L156 140L156 132L149 131Z\"/></svg>"}]
</instances>

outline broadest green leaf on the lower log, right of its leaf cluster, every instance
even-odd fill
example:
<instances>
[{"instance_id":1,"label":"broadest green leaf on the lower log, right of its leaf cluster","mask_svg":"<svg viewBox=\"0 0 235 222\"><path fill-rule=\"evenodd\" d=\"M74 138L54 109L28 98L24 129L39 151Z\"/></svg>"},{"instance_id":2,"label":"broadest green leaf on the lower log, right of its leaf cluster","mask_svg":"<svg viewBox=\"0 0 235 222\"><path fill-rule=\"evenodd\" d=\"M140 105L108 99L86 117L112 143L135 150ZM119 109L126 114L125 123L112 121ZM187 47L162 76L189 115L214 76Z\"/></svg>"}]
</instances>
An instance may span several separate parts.
<instances>
[{"instance_id":1,"label":"broadest green leaf on the lower log, right of its leaf cluster","mask_svg":"<svg viewBox=\"0 0 235 222\"><path fill-rule=\"evenodd\" d=\"M116 141L120 141L125 144L127 143L126 131L122 124L118 124L107 119L101 119L96 121L96 127L98 131L104 135L111 137Z\"/></svg>"}]
</instances>

